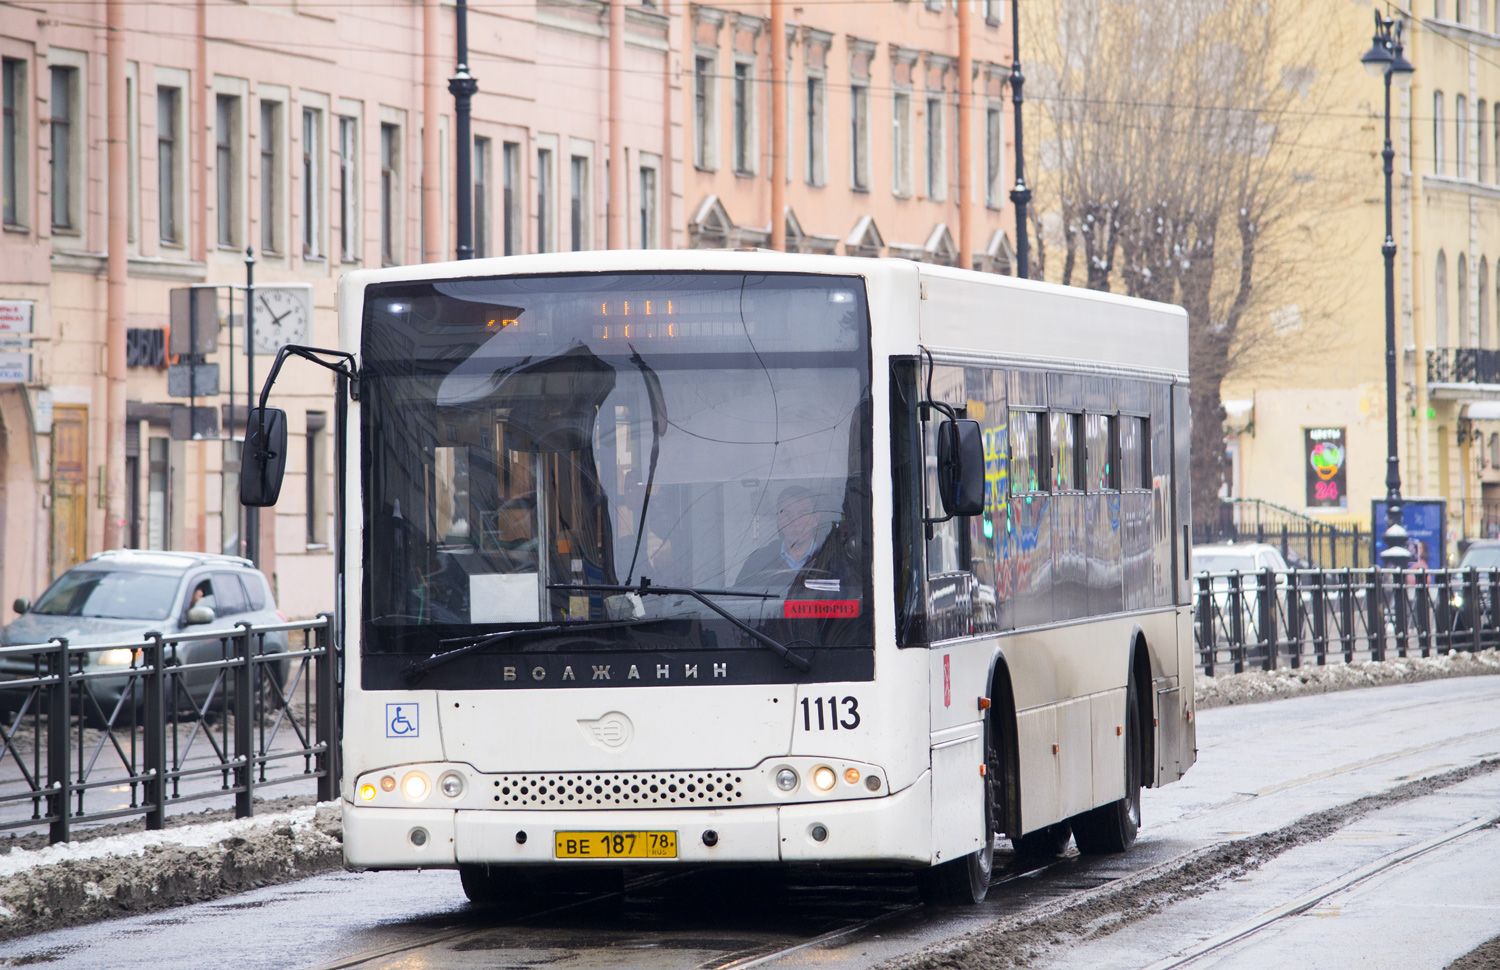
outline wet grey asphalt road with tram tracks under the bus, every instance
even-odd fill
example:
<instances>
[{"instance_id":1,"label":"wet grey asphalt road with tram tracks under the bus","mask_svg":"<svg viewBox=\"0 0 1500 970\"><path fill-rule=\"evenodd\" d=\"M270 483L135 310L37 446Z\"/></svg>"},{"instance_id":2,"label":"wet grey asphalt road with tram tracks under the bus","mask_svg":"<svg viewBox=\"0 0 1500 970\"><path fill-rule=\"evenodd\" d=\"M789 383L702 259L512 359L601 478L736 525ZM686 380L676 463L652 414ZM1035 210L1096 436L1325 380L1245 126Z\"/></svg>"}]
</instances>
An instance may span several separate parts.
<instances>
[{"instance_id":1,"label":"wet grey asphalt road with tram tracks under the bus","mask_svg":"<svg viewBox=\"0 0 1500 970\"><path fill-rule=\"evenodd\" d=\"M456 873L338 873L4 943L0 963L99 970L220 963L237 970L868 967L1206 844L1500 757L1500 678L1206 711L1198 715L1198 765L1184 781L1146 792L1146 828L1131 853L1070 853L1040 871L1011 868L972 910L922 907L910 879L894 873L668 871L633 879L622 897L580 897L502 918L470 907ZM1218 892L1101 940L1038 954L1035 963L1179 966L1216 934L1252 927L1348 871L1494 814L1500 772L1384 808ZM1437 970L1500 934L1497 886L1500 831L1474 828L1180 966ZM1434 913L1443 918L1437 936ZM1380 939L1390 945L1378 946ZM1360 960L1347 963L1354 952Z\"/></svg>"}]
</instances>

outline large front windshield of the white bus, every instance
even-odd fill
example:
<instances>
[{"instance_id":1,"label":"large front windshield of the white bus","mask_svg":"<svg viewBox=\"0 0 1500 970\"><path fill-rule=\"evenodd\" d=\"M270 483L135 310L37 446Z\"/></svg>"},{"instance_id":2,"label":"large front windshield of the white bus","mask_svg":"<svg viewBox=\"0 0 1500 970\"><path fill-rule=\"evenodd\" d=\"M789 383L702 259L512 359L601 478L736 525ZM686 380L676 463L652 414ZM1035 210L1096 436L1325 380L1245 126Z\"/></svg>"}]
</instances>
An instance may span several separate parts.
<instances>
[{"instance_id":1,"label":"large front windshield of the white bus","mask_svg":"<svg viewBox=\"0 0 1500 970\"><path fill-rule=\"evenodd\" d=\"M753 646L694 597L588 589L644 582L873 646L868 354L856 277L370 286L364 651Z\"/></svg>"}]
</instances>

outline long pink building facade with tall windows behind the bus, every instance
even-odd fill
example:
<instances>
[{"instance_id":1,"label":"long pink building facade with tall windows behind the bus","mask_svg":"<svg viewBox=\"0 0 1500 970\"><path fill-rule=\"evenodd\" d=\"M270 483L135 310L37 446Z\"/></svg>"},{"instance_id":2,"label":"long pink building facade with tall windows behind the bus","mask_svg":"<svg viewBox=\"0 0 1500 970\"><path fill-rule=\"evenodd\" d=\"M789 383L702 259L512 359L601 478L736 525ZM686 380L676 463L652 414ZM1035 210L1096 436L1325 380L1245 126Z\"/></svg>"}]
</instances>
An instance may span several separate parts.
<instances>
[{"instance_id":1,"label":"long pink building facade with tall windows behind the bus","mask_svg":"<svg viewBox=\"0 0 1500 970\"><path fill-rule=\"evenodd\" d=\"M304 339L322 346L336 343L344 270L453 256L446 79L454 15L430 3L122 3L118 171L110 163L110 4L0 9L4 603L34 597L110 537L142 549L242 550L246 249L258 286L310 292ZM998 4L975 10L974 106L960 118L951 6L788 9L789 249L957 262L954 126L966 123L972 262L1008 271L1008 25ZM622 60L610 70L606 3L470 6L477 256L608 244L612 78L624 103L620 241L768 243L768 7L640 4L624 22ZM111 183L124 190L128 222L117 490ZM171 291L194 285L216 288L225 325L198 358L216 366L219 393L190 402L170 393L168 366L195 358L174 354L183 334L174 346L166 328ZM260 381L272 357L254 360ZM261 547L282 610L306 616L333 600L333 385L296 367L274 396L292 441ZM189 403L204 412L189 417Z\"/></svg>"}]
</instances>

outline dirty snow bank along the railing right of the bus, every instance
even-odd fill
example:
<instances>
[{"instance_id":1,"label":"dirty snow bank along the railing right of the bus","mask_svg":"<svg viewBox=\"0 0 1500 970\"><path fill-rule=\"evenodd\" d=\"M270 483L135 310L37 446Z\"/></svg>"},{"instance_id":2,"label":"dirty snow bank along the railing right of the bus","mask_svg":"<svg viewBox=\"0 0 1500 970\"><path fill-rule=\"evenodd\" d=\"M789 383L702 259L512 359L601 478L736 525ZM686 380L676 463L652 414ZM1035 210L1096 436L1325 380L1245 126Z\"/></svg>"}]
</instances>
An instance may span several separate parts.
<instances>
[{"instance_id":1,"label":"dirty snow bank along the railing right of the bus","mask_svg":"<svg viewBox=\"0 0 1500 970\"><path fill-rule=\"evenodd\" d=\"M1413 684L1443 678L1468 678L1500 673L1500 654L1480 651L1464 654L1450 651L1440 657L1401 657L1396 660L1328 664L1324 667L1280 667L1276 670L1246 670L1208 678L1202 673L1192 685L1198 711L1228 705L1282 700L1304 694L1328 694L1358 687Z\"/></svg>"}]
</instances>

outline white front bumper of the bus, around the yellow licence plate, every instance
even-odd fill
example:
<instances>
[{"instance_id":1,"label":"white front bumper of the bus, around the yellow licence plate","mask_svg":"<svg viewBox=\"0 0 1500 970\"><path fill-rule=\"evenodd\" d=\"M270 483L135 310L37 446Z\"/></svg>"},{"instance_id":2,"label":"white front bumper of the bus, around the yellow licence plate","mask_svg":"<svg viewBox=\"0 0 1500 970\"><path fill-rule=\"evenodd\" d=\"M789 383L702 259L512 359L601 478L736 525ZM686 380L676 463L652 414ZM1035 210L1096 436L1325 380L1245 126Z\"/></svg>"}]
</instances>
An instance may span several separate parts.
<instances>
[{"instance_id":1,"label":"white front bumper of the bus, around the yellow licence plate","mask_svg":"<svg viewBox=\"0 0 1500 970\"><path fill-rule=\"evenodd\" d=\"M746 808L468 811L344 804L344 858L354 868L590 865L555 859L555 832L676 832L675 859L596 861L612 865L928 865L932 780L924 772L910 787L878 799ZM706 832L712 837L705 840Z\"/></svg>"}]
</instances>

